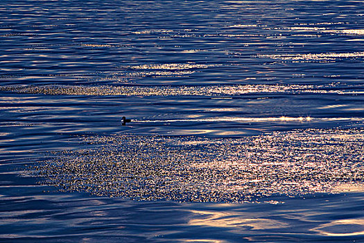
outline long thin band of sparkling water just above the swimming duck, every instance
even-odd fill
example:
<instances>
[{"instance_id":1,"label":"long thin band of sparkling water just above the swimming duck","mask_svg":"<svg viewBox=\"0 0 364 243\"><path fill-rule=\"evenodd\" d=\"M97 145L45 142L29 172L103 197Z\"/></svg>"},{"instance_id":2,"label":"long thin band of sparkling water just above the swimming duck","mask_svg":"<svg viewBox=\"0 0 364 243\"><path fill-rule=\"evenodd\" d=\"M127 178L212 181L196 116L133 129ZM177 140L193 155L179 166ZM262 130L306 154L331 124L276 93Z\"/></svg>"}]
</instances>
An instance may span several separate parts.
<instances>
[{"instance_id":1,"label":"long thin band of sparkling water just above the swimming duck","mask_svg":"<svg viewBox=\"0 0 364 243\"><path fill-rule=\"evenodd\" d=\"M234 96L252 93L284 94L359 94L362 86L330 83L327 85L205 85L205 86L112 86L112 85L18 85L0 91L51 95L138 95L138 96Z\"/></svg>"}]
</instances>

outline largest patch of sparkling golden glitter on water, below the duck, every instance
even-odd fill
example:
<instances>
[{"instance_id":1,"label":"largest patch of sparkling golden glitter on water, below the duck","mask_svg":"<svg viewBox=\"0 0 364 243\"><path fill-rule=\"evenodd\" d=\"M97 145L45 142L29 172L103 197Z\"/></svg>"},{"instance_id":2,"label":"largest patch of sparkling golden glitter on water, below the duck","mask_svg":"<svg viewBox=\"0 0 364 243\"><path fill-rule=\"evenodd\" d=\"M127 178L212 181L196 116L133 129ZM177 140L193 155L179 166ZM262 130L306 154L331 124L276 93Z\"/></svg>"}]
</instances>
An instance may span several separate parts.
<instances>
[{"instance_id":1,"label":"largest patch of sparkling golden glitter on water, below the duck","mask_svg":"<svg viewBox=\"0 0 364 243\"><path fill-rule=\"evenodd\" d=\"M241 139L90 136L36 167L65 191L137 200L241 202L272 194L364 191L363 129Z\"/></svg>"}]
</instances>

